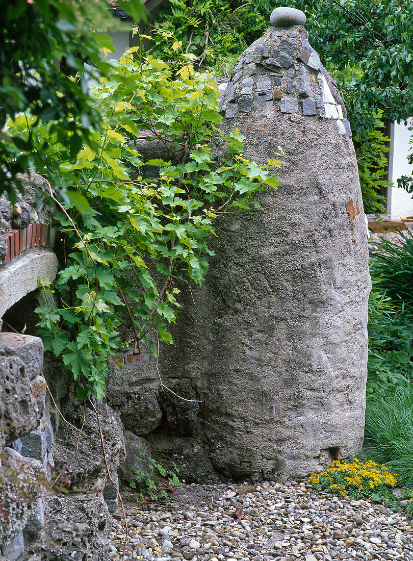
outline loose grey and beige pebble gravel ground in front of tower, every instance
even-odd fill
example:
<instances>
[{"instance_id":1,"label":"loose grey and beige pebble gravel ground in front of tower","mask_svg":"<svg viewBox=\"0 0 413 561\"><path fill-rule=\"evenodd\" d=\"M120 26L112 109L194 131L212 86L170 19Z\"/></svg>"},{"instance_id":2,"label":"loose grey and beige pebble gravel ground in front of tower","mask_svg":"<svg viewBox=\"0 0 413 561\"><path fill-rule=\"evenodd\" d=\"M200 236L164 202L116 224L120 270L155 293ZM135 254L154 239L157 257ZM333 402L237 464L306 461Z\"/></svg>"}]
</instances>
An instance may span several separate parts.
<instances>
[{"instance_id":1,"label":"loose grey and beige pebble gravel ground in front of tower","mask_svg":"<svg viewBox=\"0 0 413 561\"><path fill-rule=\"evenodd\" d=\"M125 559L413 560L413 525L405 513L320 493L306 481L186 485L163 504L137 507L136 499L127 500L126 512ZM123 521L114 519L114 561L124 538Z\"/></svg>"}]
</instances>

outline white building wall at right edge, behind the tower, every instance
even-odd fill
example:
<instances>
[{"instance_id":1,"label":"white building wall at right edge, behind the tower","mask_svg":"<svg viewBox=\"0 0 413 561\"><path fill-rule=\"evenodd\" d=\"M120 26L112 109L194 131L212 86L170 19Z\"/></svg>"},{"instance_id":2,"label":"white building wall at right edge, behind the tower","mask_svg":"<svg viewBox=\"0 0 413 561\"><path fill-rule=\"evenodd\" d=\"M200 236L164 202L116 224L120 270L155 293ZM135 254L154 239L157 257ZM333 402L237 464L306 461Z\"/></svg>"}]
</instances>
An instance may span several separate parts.
<instances>
[{"instance_id":1,"label":"white building wall at right edge, behind the tower","mask_svg":"<svg viewBox=\"0 0 413 561\"><path fill-rule=\"evenodd\" d=\"M413 131L409 131L409 127L413 126L413 117L410 117L407 124L402 121L393 123L390 132L390 148L389 154L389 181L392 181L393 187L388 190L387 211L391 220L400 220L413 216L413 199L412 196L404 189L397 187L397 180L403 176L410 176L413 166L407 162L407 155L410 148L409 144Z\"/></svg>"}]
</instances>

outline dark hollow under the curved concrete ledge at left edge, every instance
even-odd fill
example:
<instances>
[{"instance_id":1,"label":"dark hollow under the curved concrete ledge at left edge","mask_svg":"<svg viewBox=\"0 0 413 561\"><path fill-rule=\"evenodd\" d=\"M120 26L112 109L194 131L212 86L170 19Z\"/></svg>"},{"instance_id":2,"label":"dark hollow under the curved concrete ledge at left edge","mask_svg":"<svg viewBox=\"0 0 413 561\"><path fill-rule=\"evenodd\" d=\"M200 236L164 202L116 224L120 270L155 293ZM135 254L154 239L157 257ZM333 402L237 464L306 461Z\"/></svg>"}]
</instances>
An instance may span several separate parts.
<instances>
[{"instance_id":1,"label":"dark hollow under the curved concrete ledge at left edge","mask_svg":"<svg viewBox=\"0 0 413 561\"><path fill-rule=\"evenodd\" d=\"M39 321L38 314L34 310L39 306L40 290L36 289L13 304L3 315L2 331L25 333L35 335L36 323Z\"/></svg>"}]
</instances>

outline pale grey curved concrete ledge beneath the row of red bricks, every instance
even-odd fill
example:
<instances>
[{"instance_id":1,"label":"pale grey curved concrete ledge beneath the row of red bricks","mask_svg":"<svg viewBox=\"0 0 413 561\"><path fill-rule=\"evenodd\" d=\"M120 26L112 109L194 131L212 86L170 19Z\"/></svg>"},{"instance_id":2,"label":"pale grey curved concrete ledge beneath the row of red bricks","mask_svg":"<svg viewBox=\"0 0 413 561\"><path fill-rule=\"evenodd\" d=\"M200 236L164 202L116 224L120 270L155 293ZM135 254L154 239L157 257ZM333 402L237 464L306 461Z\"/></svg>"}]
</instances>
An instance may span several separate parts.
<instances>
[{"instance_id":1,"label":"pale grey curved concrete ledge beneath the row of red bricks","mask_svg":"<svg viewBox=\"0 0 413 561\"><path fill-rule=\"evenodd\" d=\"M29 250L0 270L0 318L29 292L38 288L38 277L54 280L57 257L49 250Z\"/></svg>"}]
</instances>

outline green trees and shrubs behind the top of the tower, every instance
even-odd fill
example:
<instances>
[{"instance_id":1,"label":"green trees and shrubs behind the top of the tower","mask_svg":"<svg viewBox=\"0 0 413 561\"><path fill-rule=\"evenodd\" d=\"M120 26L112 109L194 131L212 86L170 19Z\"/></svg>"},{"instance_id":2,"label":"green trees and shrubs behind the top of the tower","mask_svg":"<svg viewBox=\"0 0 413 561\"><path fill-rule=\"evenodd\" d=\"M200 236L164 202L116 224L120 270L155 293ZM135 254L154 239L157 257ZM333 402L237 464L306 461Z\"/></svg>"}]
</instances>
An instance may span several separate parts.
<instances>
[{"instance_id":1,"label":"green trees and shrubs behind the top of the tower","mask_svg":"<svg viewBox=\"0 0 413 561\"><path fill-rule=\"evenodd\" d=\"M247 44L269 26L278 6L303 10L311 44L345 99L359 159L367 211L383 208L388 139L383 119L413 114L413 4L409 0L171 0L155 25L157 56L164 37L175 34L195 66L228 76ZM156 29L158 27L158 29Z\"/></svg>"}]
</instances>

